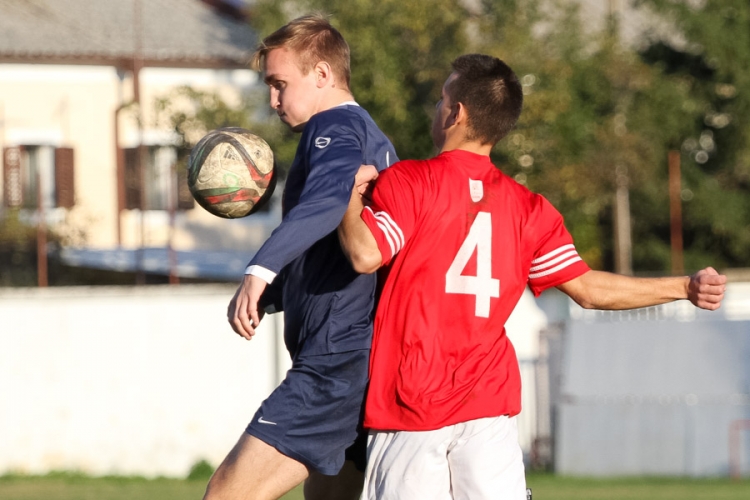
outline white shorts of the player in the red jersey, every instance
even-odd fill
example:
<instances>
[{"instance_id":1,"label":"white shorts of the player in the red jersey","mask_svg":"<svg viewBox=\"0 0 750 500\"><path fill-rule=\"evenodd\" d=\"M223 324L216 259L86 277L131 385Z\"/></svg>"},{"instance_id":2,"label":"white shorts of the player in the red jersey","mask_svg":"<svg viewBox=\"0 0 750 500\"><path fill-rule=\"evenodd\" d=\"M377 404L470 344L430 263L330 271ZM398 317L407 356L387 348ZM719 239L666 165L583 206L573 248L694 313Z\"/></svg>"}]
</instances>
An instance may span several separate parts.
<instances>
[{"instance_id":1,"label":"white shorts of the player in the red jersey","mask_svg":"<svg viewBox=\"0 0 750 500\"><path fill-rule=\"evenodd\" d=\"M371 431L363 500L526 500L516 419Z\"/></svg>"}]
</instances>

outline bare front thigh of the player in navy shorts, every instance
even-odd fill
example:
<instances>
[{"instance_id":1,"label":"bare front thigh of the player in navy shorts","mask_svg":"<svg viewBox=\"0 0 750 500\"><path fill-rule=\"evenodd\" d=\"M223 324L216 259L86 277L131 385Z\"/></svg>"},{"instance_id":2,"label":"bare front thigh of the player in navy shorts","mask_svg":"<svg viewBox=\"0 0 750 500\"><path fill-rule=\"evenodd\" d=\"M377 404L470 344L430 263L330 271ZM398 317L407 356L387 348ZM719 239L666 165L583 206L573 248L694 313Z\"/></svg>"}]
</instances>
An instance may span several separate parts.
<instances>
[{"instance_id":1,"label":"bare front thigh of the player in navy shorts","mask_svg":"<svg viewBox=\"0 0 750 500\"><path fill-rule=\"evenodd\" d=\"M204 500L275 500L304 481L307 467L243 433L208 482Z\"/></svg>"}]
</instances>

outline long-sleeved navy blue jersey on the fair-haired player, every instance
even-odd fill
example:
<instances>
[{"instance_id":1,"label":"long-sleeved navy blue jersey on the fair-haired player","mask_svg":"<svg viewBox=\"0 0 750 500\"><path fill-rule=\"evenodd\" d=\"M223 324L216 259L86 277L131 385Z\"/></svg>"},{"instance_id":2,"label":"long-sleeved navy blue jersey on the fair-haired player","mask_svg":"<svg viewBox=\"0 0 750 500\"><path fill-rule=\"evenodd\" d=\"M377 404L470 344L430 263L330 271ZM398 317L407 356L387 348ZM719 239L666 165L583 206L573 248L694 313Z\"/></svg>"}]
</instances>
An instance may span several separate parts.
<instances>
[{"instance_id":1,"label":"long-sleeved navy blue jersey on the fair-haired player","mask_svg":"<svg viewBox=\"0 0 750 500\"><path fill-rule=\"evenodd\" d=\"M396 161L393 145L357 105L323 111L305 125L284 188L283 220L250 262L278 273L261 305L283 309L293 358L369 349L375 274L352 269L336 228L360 165L383 170ZM280 301L273 296L279 290Z\"/></svg>"}]
</instances>

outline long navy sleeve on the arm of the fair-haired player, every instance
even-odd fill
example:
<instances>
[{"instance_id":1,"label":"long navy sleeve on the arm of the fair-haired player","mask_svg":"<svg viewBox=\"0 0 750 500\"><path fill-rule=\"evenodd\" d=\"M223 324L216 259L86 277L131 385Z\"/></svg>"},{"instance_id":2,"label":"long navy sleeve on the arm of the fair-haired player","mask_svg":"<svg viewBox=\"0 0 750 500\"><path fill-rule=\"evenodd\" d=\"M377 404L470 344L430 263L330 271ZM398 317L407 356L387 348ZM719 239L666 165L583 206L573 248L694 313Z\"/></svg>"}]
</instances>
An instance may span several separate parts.
<instances>
[{"instance_id":1,"label":"long navy sleeve on the arm of the fair-haired player","mask_svg":"<svg viewBox=\"0 0 750 500\"><path fill-rule=\"evenodd\" d=\"M336 229L363 162L361 140L351 125L311 120L300 141L307 178L299 202L250 261L276 273Z\"/></svg>"}]
</instances>

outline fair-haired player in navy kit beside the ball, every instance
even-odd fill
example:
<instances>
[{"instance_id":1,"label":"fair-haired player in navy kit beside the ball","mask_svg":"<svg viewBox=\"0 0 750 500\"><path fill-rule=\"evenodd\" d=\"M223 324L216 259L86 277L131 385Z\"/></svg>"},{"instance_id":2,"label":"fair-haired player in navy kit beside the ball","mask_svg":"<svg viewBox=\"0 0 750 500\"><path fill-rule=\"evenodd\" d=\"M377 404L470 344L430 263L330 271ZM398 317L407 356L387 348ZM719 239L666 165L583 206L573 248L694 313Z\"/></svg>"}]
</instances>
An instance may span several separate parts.
<instances>
[{"instance_id":1,"label":"fair-haired player in navy kit beside the ball","mask_svg":"<svg viewBox=\"0 0 750 500\"><path fill-rule=\"evenodd\" d=\"M354 271L336 228L360 165L382 170L396 153L354 101L349 48L324 17L305 16L269 35L255 62L271 107L301 137L282 222L250 261L227 317L249 340L264 312L283 310L292 368L205 498L274 499L305 481L308 499L354 499L364 477L360 430L376 281Z\"/></svg>"}]
</instances>

